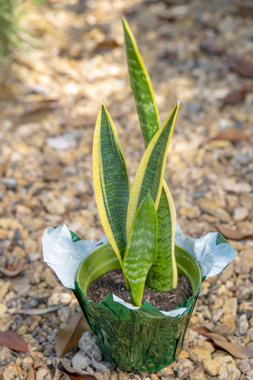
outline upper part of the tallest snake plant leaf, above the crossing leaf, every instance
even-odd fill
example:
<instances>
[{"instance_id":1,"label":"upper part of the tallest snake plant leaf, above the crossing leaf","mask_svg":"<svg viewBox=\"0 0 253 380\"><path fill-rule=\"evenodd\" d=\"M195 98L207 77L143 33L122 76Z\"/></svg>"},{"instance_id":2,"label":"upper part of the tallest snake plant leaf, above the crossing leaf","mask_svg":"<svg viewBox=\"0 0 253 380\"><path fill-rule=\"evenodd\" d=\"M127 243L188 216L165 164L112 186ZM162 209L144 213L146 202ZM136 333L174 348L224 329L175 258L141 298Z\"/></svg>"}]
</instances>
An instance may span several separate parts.
<instances>
[{"instance_id":1,"label":"upper part of the tallest snake plant leaf, above the crossing leaf","mask_svg":"<svg viewBox=\"0 0 253 380\"><path fill-rule=\"evenodd\" d=\"M126 42L129 83L134 95L146 148L159 128L159 114L149 74L141 58L134 35L124 17L122 21Z\"/></svg>"}]
</instances>

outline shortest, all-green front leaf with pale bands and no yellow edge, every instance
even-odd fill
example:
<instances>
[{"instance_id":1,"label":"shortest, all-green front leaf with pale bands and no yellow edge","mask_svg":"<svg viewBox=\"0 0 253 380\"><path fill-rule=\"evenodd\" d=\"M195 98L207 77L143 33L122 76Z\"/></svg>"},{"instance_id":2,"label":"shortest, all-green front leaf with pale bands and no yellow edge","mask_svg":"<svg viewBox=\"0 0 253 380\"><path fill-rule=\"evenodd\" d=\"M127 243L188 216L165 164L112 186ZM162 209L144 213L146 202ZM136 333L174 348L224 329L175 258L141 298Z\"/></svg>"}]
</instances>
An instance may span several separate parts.
<instances>
[{"instance_id":1,"label":"shortest, all-green front leaf with pale bands and no yellow edge","mask_svg":"<svg viewBox=\"0 0 253 380\"><path fill-rule=\"evenodd\" d=\"M148 192L134 217L123 258L122 269L131 287L134 306L141 306L146 277L156 257L157 215L153 199Z\"/></svg>"}]
</instances>

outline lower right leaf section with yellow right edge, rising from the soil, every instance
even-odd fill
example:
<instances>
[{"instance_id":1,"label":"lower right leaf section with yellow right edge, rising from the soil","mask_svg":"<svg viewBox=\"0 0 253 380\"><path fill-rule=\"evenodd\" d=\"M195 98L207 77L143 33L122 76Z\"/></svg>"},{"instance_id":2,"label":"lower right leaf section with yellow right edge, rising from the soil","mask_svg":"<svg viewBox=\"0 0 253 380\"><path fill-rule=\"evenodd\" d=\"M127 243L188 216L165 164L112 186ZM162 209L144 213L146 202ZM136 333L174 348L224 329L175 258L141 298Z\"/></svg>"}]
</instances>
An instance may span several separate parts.
<instances>
[{"instance_id":1,"label":"lower right leaf section with yellow right edge, rising from the soil","mask_svg":"<svg viewBox=\"0 0 253 380\"><path fill-rule=\"evenodd\" d=\"M167 291L178 285L178 270L175 259L176 209L163 180L162 193L157 208L158 239L157 259L151 266L147 283L151 289Z\"/></svg>"}]
</instances>

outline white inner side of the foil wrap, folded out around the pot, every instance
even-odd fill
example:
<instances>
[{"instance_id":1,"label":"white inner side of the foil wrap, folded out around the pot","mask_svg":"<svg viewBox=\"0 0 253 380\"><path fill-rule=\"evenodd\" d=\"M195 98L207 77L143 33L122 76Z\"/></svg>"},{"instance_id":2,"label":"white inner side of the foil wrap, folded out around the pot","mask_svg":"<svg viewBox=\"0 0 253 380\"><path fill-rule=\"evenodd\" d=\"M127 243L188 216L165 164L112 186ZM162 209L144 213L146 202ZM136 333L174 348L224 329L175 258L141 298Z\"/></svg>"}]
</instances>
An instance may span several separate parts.
<instances>
[{"instance_id":1,"label":"white inner side of the foil wrap, folded out around the pot","mask_svg":"<svg viewBox=\"0 0 253 380\"><path fill-rule=\"evenodd\" d=\"M198 261L202 277L212 277L220 273L234 258L236 252L232 245L221 243L216 245L216 233L209 233L200 239L184 236L177 223L175 244L187 250ZM63 224L57 228L47 227L42 235L42 250L44 261L53 269L57 277L67 288L75 288L77 271L82 261L100 244L108 242L104 235L99 241L72 241L68 227ZM139 309L113 294L116 302L132 310ZM181 307L169 312L161 311L164 315L176 317L187 310Z\"/></svg>"}]
</instances>

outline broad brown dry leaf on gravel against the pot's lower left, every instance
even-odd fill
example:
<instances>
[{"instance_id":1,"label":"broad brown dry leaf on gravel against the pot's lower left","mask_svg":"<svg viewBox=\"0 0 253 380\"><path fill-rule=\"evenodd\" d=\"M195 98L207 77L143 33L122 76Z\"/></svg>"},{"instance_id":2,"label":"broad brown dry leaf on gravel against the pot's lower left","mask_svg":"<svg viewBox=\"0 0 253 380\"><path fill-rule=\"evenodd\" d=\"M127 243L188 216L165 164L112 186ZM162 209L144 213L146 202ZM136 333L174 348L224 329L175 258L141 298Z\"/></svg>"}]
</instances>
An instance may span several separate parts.
<instances>
[{"instance_id":1,"label":"broad brown dry leaf on gravel against the pot's lower left","mask_svg":"<svg viewBox=\"0 0 253 380\"><path fill-rule=\"evenodd\" d=\"M65 352L75 348L85 331L91 331L91 329L83 312L80 311L72 315L66 327L59 329L55 344L58 358L61 358Z\"/></svg>"}]
</instances>

